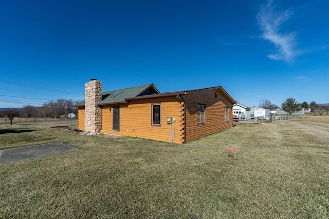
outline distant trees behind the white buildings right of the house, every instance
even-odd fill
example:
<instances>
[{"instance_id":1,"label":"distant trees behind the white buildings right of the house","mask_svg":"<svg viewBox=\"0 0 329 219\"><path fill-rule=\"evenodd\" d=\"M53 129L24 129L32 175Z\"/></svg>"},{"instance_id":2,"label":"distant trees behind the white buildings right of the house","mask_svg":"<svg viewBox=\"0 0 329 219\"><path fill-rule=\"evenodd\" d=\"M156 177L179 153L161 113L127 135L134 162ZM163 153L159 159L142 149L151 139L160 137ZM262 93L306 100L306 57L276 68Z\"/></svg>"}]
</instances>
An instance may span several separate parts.
<instances>
[{"instance_id":1,"label":"distant trees behind the white buildings right of the house","mask_svg":"<svg viewBox=\"0 0 329 219\"><path fill-rule=\"evenodd\" d=\"M259 107L264 109L275 110L279 108L279 106L272 104L268 99L261 99L259 102L260 102ZM312 101L309 104L307 102L298 103L295 98L290 97L287 98L285 102L281 104L281 109L287 112L288 114L298 112L303 108L304 109L309 108L310 112L313 112L314 115L316 114L323 115L324 113L326 113L326 115L329 115L329 105L320 106L315 101Z\"/></svg>"}]
</instances>

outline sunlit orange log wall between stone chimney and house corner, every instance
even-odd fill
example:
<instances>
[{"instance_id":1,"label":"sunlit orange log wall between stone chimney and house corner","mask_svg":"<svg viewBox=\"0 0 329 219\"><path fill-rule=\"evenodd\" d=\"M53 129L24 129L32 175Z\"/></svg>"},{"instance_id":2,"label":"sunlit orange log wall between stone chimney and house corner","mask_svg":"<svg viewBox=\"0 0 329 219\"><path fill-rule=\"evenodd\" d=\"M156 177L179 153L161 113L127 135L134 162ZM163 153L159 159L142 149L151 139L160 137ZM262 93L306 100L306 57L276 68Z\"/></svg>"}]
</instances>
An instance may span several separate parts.
<instances>
[{"instance_id":1,"label":"sunlit orange log wall between stone chimney and house corner","mask_svg":"<svg viewBox=\"0 0 329 219\"><path fill-rule=\"evenodd\" d=\"M160 126L152 126L152 104L161 103ZM184 104L176 97L159 97L131 101L120 105L120 131L112 130L113 108L115 105L102 106L102 132L132 137L143 137L158 141L171 141L170 125L167 116L176 118L172 124L172 140L174 143L184 143Z\"/></svg>"}]
</instances>

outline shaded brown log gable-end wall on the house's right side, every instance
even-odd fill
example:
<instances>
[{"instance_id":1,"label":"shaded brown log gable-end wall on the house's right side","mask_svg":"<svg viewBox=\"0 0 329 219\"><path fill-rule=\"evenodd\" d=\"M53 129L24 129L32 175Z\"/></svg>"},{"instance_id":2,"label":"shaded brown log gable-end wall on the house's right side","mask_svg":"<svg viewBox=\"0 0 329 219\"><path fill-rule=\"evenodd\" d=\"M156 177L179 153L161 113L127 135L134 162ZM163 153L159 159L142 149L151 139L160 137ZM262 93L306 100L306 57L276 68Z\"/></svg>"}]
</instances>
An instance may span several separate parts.
<instances>
[{"instance_id":1,"label":"shaded brown log gable-end wall on the house's right side","mask_svg":"<svg viewBox=\"0 0 329 219\"><path fill-rule=\"evenodd\" d=\"M215 94L216 93L216 94ZM182 95L186 104L186 141L190 142L233 126L232 103L213 88ZM197 104L205 104L206 123L197 124ZM225 107L229 108L229 121L225 122Z\"/></svg>"}]
</instances>

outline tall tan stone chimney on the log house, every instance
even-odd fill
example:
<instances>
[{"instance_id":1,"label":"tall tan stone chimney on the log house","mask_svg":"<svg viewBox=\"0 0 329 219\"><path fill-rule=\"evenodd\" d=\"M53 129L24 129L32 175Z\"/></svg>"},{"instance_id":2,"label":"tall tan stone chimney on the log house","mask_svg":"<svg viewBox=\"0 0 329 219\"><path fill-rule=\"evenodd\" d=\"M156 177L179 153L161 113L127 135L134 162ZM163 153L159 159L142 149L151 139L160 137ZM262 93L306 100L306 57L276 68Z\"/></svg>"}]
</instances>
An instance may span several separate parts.
<instances>
[{"instance_id":1,"label":"tall tan stone chimney on the log house","mask_svg":"<svg viewBox=\"0 0 329 219\"><path fill-rule=\"evenodd\" d=\"M102 109L98 102L102 99L102 82L92 79L85 85L84 131L90 134L100 133L102 129Z\"/></svg>"}]
</instances>

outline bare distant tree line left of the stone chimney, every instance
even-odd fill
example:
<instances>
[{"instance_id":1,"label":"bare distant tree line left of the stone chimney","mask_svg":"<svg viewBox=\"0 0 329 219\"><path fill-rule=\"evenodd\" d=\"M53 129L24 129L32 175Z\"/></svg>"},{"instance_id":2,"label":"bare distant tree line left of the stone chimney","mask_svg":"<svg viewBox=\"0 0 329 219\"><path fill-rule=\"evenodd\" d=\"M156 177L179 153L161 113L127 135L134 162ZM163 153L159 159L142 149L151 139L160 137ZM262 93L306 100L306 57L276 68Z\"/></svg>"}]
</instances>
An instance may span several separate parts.
<instances>
[{"instance_id":1,"label":"bare distant tree line left of the stone chimney","mask_svg":"<svg viewBox=\"0 0 329 219\"><path fill-rule=\"evenodd\" d=\"M0 117L4 117L5 120L8 118L11 125L14 117L44 118L44 121L47 118L64 120L69 113L78 113L78 109L74 106L79 102L72 99L58 99L44 103L41 107L25 105L23 108L6 108L0 111Z\"/></svg>"}]
</instances>

